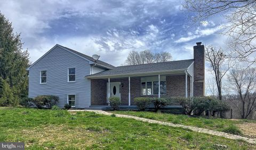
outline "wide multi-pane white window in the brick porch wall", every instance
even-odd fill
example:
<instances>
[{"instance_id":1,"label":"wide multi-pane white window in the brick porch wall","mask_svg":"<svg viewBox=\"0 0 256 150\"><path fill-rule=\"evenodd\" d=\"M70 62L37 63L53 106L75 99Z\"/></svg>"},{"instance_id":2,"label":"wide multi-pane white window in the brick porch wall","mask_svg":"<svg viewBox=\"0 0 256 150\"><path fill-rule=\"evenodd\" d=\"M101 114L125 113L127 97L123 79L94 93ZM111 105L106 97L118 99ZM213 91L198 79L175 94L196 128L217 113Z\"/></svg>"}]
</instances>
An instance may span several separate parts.
<instances>
[{"instance_id":1,"label":"wide multi-pane white window in the brick porch wall","mask_svg":"<svg viewBox=\"0 0 256 150\"><path fill-rule=\"evenodd\" d=\"M160 94L166 94L166 76L160 78ZM141 77L141 95L158 95L158 76Z\"/></svg>"}]
</instances>

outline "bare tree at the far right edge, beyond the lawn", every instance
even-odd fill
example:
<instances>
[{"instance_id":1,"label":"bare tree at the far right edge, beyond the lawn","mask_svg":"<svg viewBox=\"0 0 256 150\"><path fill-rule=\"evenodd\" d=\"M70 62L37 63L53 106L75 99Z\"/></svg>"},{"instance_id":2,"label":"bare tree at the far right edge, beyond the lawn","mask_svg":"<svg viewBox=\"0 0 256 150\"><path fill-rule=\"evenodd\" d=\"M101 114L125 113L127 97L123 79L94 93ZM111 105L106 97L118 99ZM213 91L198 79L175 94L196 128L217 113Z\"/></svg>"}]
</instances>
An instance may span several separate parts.
<instances>
[{"instance_id":1,"label":"bare tree at the far right edge, beyond the lawn","mask_svg":"<svg viewBox=\"0 0 256 150\"><path fill-rule=\"evenodd\" d=\"M246 119L256 108L256 69L233 69L228 75L228 82L227 89L231 93L228 94L228 100L237 107L241 117Z\"/></svg>"}]
</instances>

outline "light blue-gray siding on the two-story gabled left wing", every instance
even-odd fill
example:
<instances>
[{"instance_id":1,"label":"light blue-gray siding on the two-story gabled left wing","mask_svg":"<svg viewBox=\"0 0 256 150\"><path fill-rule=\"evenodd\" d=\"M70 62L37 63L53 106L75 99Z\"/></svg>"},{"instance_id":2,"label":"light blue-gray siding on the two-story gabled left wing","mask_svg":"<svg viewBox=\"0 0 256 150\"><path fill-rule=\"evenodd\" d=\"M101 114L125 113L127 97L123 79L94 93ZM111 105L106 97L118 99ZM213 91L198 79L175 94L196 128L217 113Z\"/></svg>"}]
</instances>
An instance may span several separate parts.
<instances>
[{"instance_id":1,"label":"light blue-gray siding on the two-story gabled left wing","mask_svg":"<svg viewBox=\"0 0 256 150\"><path fill-rule=\"evenodd\" d=\"M68 68L76 68L76 82L68 82ZM47 70L47 83L40 84L40 70ZM59 47L53 48L29 69L29 98L37 95L59 96L59 107L67 103L68 94L76 95L76 108L91 104L89 61Z\"/></svg>"}]
</instances>

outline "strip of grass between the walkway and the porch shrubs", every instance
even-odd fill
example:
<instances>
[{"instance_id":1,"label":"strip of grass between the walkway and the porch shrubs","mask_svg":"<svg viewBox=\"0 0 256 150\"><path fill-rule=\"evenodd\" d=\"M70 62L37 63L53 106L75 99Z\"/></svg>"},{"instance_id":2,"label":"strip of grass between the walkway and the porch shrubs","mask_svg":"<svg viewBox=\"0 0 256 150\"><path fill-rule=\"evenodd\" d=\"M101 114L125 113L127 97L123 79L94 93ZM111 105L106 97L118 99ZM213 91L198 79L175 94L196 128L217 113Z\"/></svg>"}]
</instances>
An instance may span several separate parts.
<instances>
[{"instance_id":1,"label":"strip of grass between the walkway and the porch shrubs","mask_svg":"<svg viewBox=\"0 0 256 150\"><path fill-rule=\"evenodd\" d=\"M127 114L141 118L154 119L159 121L171 122L174 124L206 128L211 130L223 131L230 134L242 135L238 127L239 123L255 122L253 120L230 120L221 118L192 117L184 114L171 114L148 111L110 111L111 113Z\"/></svg>"}]
</instances>

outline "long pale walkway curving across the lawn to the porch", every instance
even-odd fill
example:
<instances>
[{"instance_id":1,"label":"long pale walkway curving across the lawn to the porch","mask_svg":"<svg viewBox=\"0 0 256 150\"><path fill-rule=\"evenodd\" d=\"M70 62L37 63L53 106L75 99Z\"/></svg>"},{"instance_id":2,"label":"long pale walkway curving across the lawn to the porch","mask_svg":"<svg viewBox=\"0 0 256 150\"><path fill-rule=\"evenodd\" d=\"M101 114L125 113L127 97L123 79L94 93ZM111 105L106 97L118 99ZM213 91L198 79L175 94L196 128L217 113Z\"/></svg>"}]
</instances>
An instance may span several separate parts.
<instances>
[{"instance_id":1,"label":"long pale walkway curving across the lawn to the porch","mask_svg":"<svg viewBox=\"0 0 256 150\"><path fill-rule=\"evenodd\" d=\"M95 112L95 113L99 113L99 114L104 114L107 116L110 116L111 114L113 114L113 113L109 113L109 112L106 112L103 110L69 110L69 111L90 111L90 112ZM229 139L242 139L242 140L245 140L247 143L256 144L256 139L242 137L242 136L238 136L238 135L231 135L231 134L227 134L227 133L222 133L220 131L214 131L214 130L209 130L209 129L184 126L184 125L176 125L176 124L173 124L170 122L163 122L163 121L157 121L157 120L152 120L152 119L140 118L140 117L129 116L129 115L125 115L125 114L115 114L115 115L116 115L116 117L120 117L120 118L130 118L130 119L135 119L135 120L139 120L139 121L143 121L143 122L158 123L159 125L164 125L164 126L180 127L180 128L190 129L190 130L196 131L198 133L221 136L221 137L226 137Z\"/></svg>"}]
</instances>

